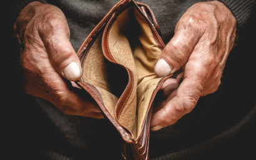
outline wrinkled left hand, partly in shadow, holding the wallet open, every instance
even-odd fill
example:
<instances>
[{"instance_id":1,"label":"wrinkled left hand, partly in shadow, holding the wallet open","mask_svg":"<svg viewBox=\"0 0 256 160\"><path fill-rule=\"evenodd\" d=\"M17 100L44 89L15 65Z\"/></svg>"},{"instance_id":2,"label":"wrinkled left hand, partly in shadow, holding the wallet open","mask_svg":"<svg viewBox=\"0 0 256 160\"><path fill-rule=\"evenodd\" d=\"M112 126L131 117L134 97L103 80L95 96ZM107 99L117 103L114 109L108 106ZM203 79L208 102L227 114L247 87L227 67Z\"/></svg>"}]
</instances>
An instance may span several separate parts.
<instances>
[{"instance_id":1,"label":"wrinkled left hand, partly in shadow, holding the wallet open","mask_svg":"<svg viewBox=\"0 0 256 160\"><path fill-rule=\"evenodd\" d=\"M81 77L81 64L59 8L41 2L27 4L17 17L14 31L23 46L21 67L26 93L50 101L69 115L103 117L92 98L84 92L78 95L68 81Z\"/></svg>"}]
</instances>

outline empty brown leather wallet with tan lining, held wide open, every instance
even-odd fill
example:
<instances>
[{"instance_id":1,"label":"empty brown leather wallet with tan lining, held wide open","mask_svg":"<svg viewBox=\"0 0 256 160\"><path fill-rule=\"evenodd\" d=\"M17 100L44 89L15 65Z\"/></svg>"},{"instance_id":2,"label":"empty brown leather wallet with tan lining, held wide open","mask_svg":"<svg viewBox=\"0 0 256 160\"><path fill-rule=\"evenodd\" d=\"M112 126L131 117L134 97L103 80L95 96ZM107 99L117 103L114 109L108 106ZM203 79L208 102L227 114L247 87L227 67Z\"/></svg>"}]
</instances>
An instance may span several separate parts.
<instances>
[{"instance_id":1,"label":"empty brown leather wallet with tan lining, held wide open","mask_svg":"<svg viewBox=\"0 0 256 160\"><path fill-rule=\"evenodd\" d=\"M170 77L158 78L154 73L164 49L159 32L147 5L123 0L104 16L77 52L82 77L76 83L120 133L124 159L149 159L152 104Z\"/></svg>"}]
</instances>

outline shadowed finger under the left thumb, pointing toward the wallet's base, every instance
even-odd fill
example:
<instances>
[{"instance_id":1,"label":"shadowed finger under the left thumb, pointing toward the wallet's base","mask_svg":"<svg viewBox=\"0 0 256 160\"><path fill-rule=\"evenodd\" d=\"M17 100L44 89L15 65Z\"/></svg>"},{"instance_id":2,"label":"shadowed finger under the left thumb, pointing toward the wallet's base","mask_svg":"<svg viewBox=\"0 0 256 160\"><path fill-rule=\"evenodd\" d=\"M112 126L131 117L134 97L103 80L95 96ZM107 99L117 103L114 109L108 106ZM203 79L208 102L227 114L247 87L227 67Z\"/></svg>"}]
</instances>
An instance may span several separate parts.
<instances>
[{"instance_id":1,"label":"shadowed finger under the left thumb, pointing toward the wallet's base","mask_svg":"<svg viewBox=\"0 0 256 160\"><path fill-rule=\"evenodd\" d=\"M28 79L24 84L24 92L50 101L67 115L103 118L99 106L88 93L83 90L79 92L78 88L69 88L59 75L54 79L57 82L57 88L56 84L49 83L44 77L42 77L44 82L41 83L37 83L38 80L34 78Z\"/></svg>"}]
</instances>

